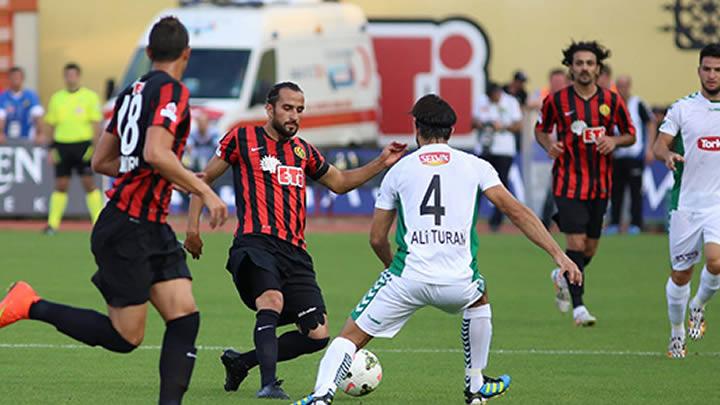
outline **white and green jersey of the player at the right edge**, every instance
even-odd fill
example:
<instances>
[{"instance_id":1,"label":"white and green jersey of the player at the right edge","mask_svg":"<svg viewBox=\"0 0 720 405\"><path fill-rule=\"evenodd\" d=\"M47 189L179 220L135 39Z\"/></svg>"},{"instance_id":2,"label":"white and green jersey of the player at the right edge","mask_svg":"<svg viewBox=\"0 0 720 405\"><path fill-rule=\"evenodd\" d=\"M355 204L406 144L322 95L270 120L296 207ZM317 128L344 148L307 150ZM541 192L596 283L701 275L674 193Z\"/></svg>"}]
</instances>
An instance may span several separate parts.
<instances>
[{"instance_id":1,"label":"white and green jersey of the player at the right edge","mask_svg":"<svg viewBox=\"0 0 720 405\"><path fill-rule=\"evenodd\" d=\"M676 101L660 132L675 137L676 163L670 210L706 211L720 206L720 102L696 92Z\"/></svg>"}]
</instances>

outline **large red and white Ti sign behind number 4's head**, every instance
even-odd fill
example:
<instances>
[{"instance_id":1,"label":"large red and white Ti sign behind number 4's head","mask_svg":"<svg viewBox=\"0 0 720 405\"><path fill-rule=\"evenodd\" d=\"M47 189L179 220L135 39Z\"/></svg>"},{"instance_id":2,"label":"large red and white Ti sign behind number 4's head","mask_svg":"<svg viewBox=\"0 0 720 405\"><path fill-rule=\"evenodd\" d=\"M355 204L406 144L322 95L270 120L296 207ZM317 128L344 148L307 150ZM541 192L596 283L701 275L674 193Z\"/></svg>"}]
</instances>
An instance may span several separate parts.
<instances>
[{"instance_id":1,"label":"large red and white Ti sign behind number 4's head","mask_svg":"<svg viewBox=\"0 0 720 405\"><path fill-rule=\"evenodd\" d=\"M415 100L435 93L457 113L453 144L472 146L473 100L485 92L489 55L482 28L465 19L371 20L368 33L382 77L383 137L412 140L413 121L407 112Z\"/></svg>"}]
</instances>

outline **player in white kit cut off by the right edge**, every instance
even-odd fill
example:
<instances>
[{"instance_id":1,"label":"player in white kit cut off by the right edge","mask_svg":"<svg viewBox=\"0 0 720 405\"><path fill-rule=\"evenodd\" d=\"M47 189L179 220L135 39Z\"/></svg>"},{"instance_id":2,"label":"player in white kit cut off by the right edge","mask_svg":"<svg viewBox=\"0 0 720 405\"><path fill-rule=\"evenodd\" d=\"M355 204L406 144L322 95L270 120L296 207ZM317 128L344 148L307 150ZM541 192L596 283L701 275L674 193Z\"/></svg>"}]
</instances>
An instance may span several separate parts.
<instances>
[{"instance_id":1,"label":"player in white kit cut off by the right edge","mask_svg":"<svg viewBox=\"0 0 720 405\"><path fill-rule=\"evenodd\" d=\"M665 286L672 327L668 356L683 358L685 309L693 266L705 266L690 301L688 335L705 334L705 305L720 288L720 44L700 51L701 89L676 101L660 126L654 152L675 172L670 201L670 279Z\"/></svg>"}]
</instances>

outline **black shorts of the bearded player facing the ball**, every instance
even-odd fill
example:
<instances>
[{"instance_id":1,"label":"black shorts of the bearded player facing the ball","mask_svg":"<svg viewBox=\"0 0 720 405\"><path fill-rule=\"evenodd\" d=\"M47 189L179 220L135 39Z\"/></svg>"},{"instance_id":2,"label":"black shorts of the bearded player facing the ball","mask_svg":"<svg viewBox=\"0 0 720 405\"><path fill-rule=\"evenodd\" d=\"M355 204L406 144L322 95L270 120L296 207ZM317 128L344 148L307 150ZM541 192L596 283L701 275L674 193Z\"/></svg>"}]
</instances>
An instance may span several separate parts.
<instances>
[{"instance_id":1,"label":"black shorts of the bearded player facing the ball","mask_svg":"<svg viewBox=\"0 0 720 405\"><path fill-rule=\"evenodd\" d=\"M255 300L265 291L282 292L281 325L296 323L311 312L325 313L312 258L291 243L263 234L238 235L230 248L227 270L240 298L253 311L257 310Z\"/></svg>"}]
</instances>

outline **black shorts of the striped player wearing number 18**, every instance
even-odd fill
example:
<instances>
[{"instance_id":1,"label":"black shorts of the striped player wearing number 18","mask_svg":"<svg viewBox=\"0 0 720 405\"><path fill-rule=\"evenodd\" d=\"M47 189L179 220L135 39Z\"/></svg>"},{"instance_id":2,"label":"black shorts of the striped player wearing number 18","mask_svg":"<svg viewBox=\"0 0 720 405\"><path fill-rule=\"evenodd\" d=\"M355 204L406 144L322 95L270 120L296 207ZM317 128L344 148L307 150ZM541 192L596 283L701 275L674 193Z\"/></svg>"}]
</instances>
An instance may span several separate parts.
<instances>
[{"instance_id":1,"label":"black shorts of the striped player wearing number 18","mask_svg":"<svg viewBox=\"0 0 720 405\"><path fill-rule=\"evenodd\" d=\"M100 213L90 246L98 266L92 281L113 307L147 302L155 283L192 279L170 225L131 218L112 204Z\"/></svg>"}]
</instances>

